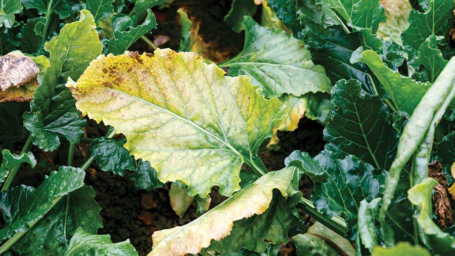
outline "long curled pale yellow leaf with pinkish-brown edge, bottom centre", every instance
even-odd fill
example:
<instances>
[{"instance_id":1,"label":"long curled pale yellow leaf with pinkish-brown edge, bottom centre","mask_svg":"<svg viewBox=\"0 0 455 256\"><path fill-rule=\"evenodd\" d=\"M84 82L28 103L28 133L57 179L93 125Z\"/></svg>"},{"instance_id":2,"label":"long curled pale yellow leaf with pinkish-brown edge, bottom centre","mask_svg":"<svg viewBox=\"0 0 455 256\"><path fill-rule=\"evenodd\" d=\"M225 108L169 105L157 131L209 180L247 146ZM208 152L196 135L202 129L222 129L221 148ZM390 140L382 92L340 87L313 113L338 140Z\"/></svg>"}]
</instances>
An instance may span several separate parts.
<instances>
[{"instance_id":1,"label":"long curled pale yellow leaf with pinkish-brown edge, bottom centre","mask_svg":"<svg viewBox=\"0 0 455 256\"><path fill-rule=\"evenodd\" d=\"M297 177L295 168L265 174L191 223L155 232L153 250L148 255L183 256L200 252L212 239L219 241L228 236L234 230L235 221L264 213L274 197L274 189L279 190L277 196L300 197L295 187Z\"/></svg>"}]
</instances>

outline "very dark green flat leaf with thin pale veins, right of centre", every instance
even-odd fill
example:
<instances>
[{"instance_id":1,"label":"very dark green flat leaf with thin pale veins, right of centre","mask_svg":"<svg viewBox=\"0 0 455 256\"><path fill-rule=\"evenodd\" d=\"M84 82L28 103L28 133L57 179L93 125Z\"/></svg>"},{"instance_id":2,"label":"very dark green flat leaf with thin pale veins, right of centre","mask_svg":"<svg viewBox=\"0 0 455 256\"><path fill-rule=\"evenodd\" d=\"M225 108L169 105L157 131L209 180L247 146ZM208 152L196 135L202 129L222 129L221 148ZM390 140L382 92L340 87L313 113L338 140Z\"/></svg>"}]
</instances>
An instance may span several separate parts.
<instances>
[{"instance_id":1,"label":"very dark green flat leaf with thin pale veins, right of centre","mask_svg":"<svg viewBox=\"0 0 455 256\"><path fill-rule=\"evenodd\" d=\"M332 89L332 103L324 139L377 169L387 169L398 140L381 98L362 90L357 80L340 80Z\"/></svg>"}]
</instances>

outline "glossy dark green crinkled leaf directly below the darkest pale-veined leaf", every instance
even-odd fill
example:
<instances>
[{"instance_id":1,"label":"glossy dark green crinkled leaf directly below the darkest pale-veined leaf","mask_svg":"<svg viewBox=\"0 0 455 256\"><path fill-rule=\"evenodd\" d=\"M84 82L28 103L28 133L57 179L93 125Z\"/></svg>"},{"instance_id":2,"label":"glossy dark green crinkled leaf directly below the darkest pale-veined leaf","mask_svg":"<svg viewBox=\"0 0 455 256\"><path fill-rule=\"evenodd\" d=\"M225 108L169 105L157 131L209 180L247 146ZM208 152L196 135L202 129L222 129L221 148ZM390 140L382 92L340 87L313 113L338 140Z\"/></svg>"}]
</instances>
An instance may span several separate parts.
<instances>
[{"instance_id":1,"label":"glossy dark green crinkled leaf directly below the darkest pale-veined leaf","mask_svg":"<svg viewBox=\"0 0 455 256\"><path fill-rule=\"evenodd\" d=\"M298 153L299 151L294 151L292 155ZM357 233L360 201L370 201L382 193L386 172L378 173L373 166L351 155L337 159L333 152L327 150L319 153L314 160L302 164L304 169L300 169L301 172L316 178L313 180L315 191L311 193L311 200L315 208L327 217L343 217L349 228L348 237L352 239ZM311 172L308 165L314 166L316 163L319 167L310 167L317 171ZM324 176L322 170L325 171Z\"/></svg>"}]
</instances>

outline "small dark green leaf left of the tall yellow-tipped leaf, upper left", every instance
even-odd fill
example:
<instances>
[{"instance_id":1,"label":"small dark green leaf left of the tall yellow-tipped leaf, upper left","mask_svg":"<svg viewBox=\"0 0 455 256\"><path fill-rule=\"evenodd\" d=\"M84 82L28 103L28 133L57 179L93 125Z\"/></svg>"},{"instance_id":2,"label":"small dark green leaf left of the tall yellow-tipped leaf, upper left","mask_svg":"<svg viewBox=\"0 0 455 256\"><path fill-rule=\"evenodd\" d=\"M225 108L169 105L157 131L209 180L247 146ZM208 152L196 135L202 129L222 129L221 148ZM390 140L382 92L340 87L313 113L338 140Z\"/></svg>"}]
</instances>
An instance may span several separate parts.
<instances>
[{"instance_id":1,"label":"small dark green leaf left of the tall yellow-tipped leaf, upper left","mask_svg":"<svg viewBox=\"0 0 455 256\"><path fill-rule=\"evenodd\" d=\"M41 54L44 52L44 35L41 31L46 22L46 18L36 17L28 19L27 23L21 27L21 32L17 35L17 39L21 42L22 52L28 54Z\"/></svg>"}]
</instances>

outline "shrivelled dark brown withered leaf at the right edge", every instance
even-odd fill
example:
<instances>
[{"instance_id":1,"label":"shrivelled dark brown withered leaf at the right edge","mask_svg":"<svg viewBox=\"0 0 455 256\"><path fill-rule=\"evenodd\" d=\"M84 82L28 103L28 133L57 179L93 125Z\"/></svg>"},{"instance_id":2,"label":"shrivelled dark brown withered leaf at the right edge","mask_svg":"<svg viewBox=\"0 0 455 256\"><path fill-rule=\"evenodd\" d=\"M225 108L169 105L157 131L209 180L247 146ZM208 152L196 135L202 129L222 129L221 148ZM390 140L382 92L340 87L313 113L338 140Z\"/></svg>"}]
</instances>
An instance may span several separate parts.
<instances>
[{"instance_id":1,"label":"shrivelled dark brown withered leaf at the right edge","mask_svg":"<svg viewBox=\"0 0 455 256\"><path fill-rule=\"evenodd\" d=\"M447 196L447 179L442 173L442 165L434 161L428 165L428 177L438 181L433 194L435 212L438 215L438 226L444 230L453 224L452 209Z\"/></svg>"}]
</instances>

